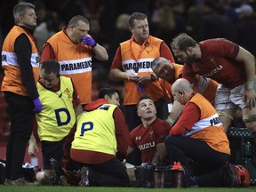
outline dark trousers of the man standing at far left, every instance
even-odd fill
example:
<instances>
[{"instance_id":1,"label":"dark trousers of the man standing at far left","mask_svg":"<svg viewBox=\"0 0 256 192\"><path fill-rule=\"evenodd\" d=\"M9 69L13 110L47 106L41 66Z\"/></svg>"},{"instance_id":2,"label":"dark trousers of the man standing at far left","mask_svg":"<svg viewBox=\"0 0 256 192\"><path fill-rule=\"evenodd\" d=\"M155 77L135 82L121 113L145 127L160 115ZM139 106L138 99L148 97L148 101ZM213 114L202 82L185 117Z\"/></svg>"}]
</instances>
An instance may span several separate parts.
<instances>
[{"instance_id":1,"label":"dark trousers of the man standing at far left","mask_svg":"<svg viewBox=\"0 0 256 192\"><path fill-rule=\"evenodd\" d=\"M11 116L11 133L6 147L6 179L17 180L23 177L22 164L28 140L33 130L34 104L29 97L13 92L4 92Z\"/></svg>"}]
</instances>

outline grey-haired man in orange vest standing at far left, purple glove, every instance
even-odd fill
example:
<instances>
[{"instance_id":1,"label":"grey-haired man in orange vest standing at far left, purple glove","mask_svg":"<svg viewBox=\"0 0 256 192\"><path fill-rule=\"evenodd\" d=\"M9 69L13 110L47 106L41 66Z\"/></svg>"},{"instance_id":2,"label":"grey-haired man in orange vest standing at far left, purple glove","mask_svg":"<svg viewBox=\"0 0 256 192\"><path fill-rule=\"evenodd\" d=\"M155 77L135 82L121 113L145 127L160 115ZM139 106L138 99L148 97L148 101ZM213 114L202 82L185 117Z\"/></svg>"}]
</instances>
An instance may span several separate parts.
<instances>
[{"instance_id":1,"label":"grey-haired man in orange vest standing at far left, purple glove","mask_svg":"<svg viewBox=\"0 0 256 192\"><path fill-rule=\"evenodd\" d=\"M1 91L11 115L11 133L6 148L5 185L30 185L24 179L22 163L35 122L43 105L36 82L39 76L38 52L33 34L36 27L35 5L16 4L15 26L6 36L2 49L4 80Z\"/></svg>"}]
</instances>

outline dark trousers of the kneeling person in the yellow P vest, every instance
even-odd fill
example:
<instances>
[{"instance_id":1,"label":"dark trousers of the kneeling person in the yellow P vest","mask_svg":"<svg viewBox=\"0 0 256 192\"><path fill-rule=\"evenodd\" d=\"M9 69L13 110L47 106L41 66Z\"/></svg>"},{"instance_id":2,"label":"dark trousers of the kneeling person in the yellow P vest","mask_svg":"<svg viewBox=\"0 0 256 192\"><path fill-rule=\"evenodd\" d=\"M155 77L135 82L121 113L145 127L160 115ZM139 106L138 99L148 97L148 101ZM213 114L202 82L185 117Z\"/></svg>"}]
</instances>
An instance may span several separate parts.
<instances>
[{"instance_id":1,"label":"dark trousers of the kneeling person in the yellow P vest","mask_svg":"<svg viewBox=\"0 0 256 192\"><path fill-rule=\"evenodd\" d=\"M92 186L128 187L130 180L126 167L116 157L102 164L82 164L75 162L80 169L88 166L89 180Z\"/></svg>"}]
</instances>

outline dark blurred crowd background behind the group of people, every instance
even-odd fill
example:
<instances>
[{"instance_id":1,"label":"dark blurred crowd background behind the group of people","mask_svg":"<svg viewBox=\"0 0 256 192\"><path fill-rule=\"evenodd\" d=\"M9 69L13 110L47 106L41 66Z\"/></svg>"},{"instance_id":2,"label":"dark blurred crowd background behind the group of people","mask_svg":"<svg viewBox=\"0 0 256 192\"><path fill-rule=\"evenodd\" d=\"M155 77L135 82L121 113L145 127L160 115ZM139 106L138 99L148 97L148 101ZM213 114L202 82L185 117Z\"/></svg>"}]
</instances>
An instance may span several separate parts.
<instances>
[{"instance_id":1,"label":"dark blurred crowd background behind the group of people","mask_svg":"<svg viewBox=\"0 0 256 192\"><path fill-rule=\"evenodd\" d=\"M12 9L16 0L0 2L0 47L14 25ZM119 43L130 39L127 20L132 12L148 15L150 35L170 45L181 32L196 41L225 37L256 55L256 0L28 0L36 5L34 36L39 52L44 42L60 31L75 15L90 20L89 34L108 50L109 60L93 60L92 100L103 86L122 83L108 79L111 62ZM2 49L1 49L2 50ZM1 71L0 80L3 78ZM239 116L239 115L238 115ZM239 124L237 125L239 126ZM243 124L241 124L243 126ZM0 92L0 141L9 135L10 119L3 92Z\"/></svg>"}]
</instances>

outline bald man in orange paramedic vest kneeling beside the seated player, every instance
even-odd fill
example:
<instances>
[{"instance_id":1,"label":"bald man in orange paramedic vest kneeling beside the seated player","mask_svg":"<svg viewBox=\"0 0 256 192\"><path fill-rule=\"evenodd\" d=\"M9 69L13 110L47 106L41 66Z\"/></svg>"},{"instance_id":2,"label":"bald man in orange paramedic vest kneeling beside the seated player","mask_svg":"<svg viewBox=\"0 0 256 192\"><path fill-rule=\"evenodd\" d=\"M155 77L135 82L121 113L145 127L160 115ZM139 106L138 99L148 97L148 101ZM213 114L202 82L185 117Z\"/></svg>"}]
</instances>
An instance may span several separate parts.
<instances>
[{"instance_id":1,"label":"bald man in orange paramedic vest kneeling beside the seated player","mask_svg":"<svg viewBox=\"0 0 256 192\"><path fill-rule=\"evenodd\" d=\"M183 78L172 84L172 95L184 108L165 147L172 162L183 165L187 187L235 187L228 138L215 108Z\"/></svg>"}]
</instances>

